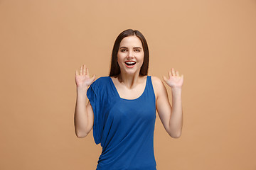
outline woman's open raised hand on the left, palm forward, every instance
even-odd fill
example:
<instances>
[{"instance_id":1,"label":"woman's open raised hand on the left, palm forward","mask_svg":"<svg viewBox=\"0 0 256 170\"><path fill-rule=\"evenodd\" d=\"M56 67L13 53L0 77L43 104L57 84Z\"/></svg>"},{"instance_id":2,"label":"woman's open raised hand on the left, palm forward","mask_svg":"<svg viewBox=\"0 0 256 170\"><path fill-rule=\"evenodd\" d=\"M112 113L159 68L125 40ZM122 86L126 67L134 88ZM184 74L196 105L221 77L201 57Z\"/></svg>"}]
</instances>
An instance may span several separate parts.
<instances>
[{"instance_id":1,"label":"woman's open raised hand on the left, palm forward","mask_svg":"<svg viewBox=\"0 0 256 170\"><path fill-rule=\"evenodd\" d=\"M78 74L78 70L75 70L75 84L77 85L78 89L85 89L95 81L95 74L90 78L89 69L85 67L83 64L80 67L80 74Z\"/></svg>"}]
</instances>

